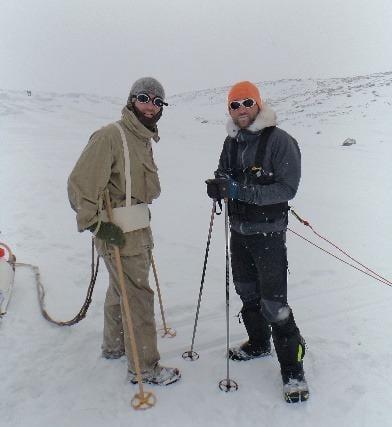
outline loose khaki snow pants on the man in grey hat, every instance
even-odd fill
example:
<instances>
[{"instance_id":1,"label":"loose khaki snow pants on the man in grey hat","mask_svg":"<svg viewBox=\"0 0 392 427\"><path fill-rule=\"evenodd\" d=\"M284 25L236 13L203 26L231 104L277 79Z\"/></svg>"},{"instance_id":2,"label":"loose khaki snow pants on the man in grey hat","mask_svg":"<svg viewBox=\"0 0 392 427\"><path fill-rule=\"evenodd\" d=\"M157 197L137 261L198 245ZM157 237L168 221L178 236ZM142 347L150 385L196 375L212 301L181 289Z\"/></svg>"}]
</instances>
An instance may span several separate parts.
<instances>
[{"instance_id":1,"label":"loose khaki snow pants on the man in grey hat","mask_svg":"<svg viewBox=\"0 0 392 427\"><path fill-rule=\"evenodd\" d=\"M102 350L117 353L125 349L128 370L135 372L129 331L122 304L120 285L114 259L105 256L109 272L109 287L104 307ZM154 291L148 283L151 266L149 251L134 256L122 256L125 288L131 312L141 371L149 371L159 361L154 318Z\"/></svg>"}]
</instances>

